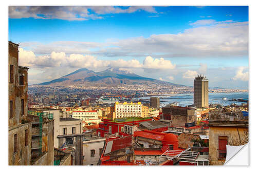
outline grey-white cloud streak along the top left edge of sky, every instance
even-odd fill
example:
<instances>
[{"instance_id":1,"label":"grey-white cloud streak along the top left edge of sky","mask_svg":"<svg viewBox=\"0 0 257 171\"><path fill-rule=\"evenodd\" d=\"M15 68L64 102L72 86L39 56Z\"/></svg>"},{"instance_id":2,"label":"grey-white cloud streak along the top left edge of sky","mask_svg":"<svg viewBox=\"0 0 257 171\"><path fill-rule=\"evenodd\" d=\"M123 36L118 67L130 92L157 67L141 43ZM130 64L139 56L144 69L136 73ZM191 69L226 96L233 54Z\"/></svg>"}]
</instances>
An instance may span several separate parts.
<instances>
[{"instance_id":1,"label":"grey-white cloud streak along the top left edge of sky","mask_svg":"<svg viewBox=\"0 0 257 171\"><path fill-rule=\"evenodd\" d=\"M93 10L95 14L90 13L88 9ZM130 6L126 9L113 6L9 6L9 17L84 21L103 19L98 14L133 13L140 10L156 13L152 6Z\"/></svg>"}]
</instances>

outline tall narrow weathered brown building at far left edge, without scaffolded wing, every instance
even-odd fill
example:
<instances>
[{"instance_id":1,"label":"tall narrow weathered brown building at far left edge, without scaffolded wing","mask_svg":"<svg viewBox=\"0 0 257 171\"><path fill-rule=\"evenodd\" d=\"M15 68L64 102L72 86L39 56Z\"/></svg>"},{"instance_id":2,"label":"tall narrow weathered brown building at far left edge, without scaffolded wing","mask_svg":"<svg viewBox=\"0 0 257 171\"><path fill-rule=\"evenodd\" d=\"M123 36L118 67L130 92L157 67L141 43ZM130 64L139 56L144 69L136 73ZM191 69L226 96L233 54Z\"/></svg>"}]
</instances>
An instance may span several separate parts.
<instances>
[{"instance_id":1,"label":"tall narrow weathered brown building at far left edge, without scaffolded wing","mask_svg":"<svg viewBox=\"0 0 257 171\"><path fill-rule=\"evenodd\" d=\"M9 165L29 165L31 124L27 117L28 69L19 66L19 45L9 42Z\"/></svg>"}]
</instances>

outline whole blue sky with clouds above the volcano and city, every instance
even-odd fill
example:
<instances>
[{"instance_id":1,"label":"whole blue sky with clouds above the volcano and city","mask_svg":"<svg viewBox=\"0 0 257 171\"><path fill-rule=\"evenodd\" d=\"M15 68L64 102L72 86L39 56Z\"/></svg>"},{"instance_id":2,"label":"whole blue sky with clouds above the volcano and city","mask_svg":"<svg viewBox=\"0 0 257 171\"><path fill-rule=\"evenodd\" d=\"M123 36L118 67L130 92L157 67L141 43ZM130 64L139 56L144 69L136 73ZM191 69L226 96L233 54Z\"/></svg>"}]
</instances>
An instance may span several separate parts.
<instances>
[{"instance_id":1,"label":"whole blue sky with clouds above the volcano and city","mask_svg":"<svg viewBox=\"0 0 257 171\"><path fill-rule=\"evenodd\" d=\"M248 89L247 6L10 6L9 40L20 43L29 84L120 67L184 85L203 73L210 87Z\"/></svg>"}]
</instances>

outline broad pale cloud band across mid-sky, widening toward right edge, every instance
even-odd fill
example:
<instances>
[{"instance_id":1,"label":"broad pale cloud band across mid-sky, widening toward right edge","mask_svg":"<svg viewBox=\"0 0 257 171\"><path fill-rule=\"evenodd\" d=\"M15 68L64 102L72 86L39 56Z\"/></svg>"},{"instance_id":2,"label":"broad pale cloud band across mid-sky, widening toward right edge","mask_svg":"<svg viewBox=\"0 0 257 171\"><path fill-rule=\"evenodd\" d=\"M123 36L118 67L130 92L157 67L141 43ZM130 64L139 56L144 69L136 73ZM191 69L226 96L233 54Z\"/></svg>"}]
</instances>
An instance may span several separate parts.
<instances>
[{"instance_id":1,"label":"broad pale cloud band across mid-sky, widening toward right edge","mask_svg":"<svg viewBox=\"0 0 257 171\"><path fill-rule=\"evenodd\" d=\"M21 43L35 54L52 51L104 57L229 57L248 55L248 22L215 22L212 26L186 29L178 34L152 34L124 40L96 42ZM209 21L210 22L210 21Z\"/></svg>"}]
</instances>

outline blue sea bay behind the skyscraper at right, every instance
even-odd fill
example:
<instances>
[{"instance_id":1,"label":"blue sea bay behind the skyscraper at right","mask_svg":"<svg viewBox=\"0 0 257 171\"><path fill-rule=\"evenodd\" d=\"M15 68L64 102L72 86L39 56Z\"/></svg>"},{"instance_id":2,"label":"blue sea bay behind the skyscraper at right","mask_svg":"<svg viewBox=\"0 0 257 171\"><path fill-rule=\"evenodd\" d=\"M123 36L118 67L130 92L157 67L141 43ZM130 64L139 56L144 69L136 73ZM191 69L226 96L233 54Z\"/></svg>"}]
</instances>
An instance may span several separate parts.
<instances>
[{"instance_id":1,"label":"blue sea bay behind the skyscraper at right","mask_svg":"<svg viewBox=\"0 0 257 171\"><path fill-rule=\"evenodd\" d=\"M194 94L163 94L161 96L154 96L160 98L160 106L177 102L179 106L188 106L194 103ZM133 100L149 99L150 97L134 98ZM248 92L230 92L230 93L209 93L209 104L221 104L223 106L232 103L241 105L243 102L231 101L232 99L248 99Z\"/></svg>"}]
</instances>

